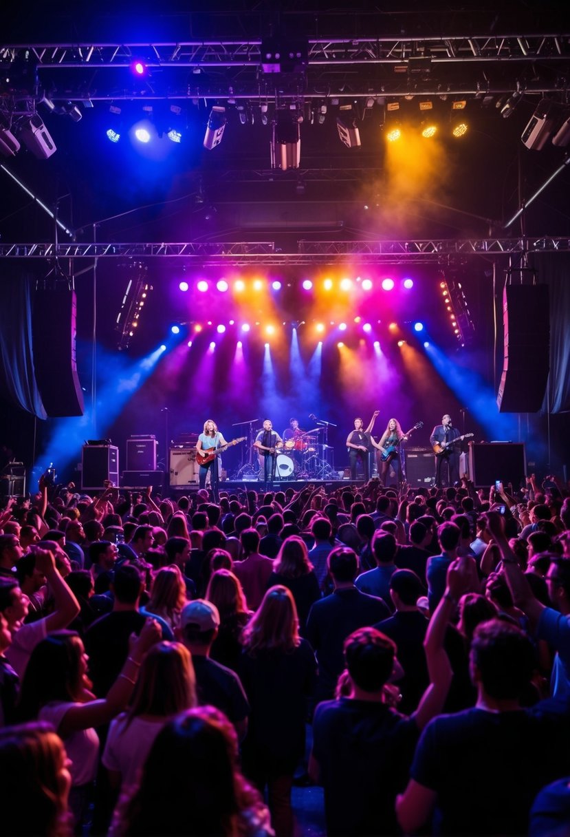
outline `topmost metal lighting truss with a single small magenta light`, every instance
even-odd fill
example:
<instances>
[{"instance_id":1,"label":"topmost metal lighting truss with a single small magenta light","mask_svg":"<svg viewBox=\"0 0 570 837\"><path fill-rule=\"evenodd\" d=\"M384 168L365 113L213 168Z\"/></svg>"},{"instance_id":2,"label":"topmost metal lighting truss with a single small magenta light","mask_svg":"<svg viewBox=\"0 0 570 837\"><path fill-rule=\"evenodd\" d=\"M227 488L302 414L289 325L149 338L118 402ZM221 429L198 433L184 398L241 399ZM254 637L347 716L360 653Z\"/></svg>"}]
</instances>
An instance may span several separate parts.
<instances>
[{"instance_id":1,"label":"topmost metal lighting truss with a single small magenta light","mask_svg":"<svg viewBox=\"0 0 570 837\"><path fill-rule=\"evenodd\" d=\"M232 98L338 100L378 95L486 95L526 90L564 92L570 75L570 35L512 32L409 38L308 39L303 72L261 71L261 39L212 39L157 44L2 44L0 68L23 62L38 70L43 90L70 100ZM134 59L145 79L114 70ZM84 70L84 72L82 72ZM160 70L160 72L158 72ZM232 72L235 71L235 72ZM38 91L18 91L19 102Z\"/></svg>"}]
</instances>

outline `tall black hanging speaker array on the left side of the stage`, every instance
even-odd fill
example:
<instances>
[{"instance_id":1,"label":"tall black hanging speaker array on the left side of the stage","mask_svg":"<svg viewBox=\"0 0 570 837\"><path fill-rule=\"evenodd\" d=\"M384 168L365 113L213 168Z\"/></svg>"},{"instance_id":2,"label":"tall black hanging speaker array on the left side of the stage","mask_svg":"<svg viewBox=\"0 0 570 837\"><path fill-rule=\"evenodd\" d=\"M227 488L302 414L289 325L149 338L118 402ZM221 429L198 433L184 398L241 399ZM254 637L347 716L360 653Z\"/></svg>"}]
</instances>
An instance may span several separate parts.
<instances>
[{"instance_id":1,"label":"tall black hanging speaker array on the left side of the stage","mask_svg":"<svg viewBox=\"0 0 570 837\"><path fill-rule=\"evenodd\" d=\"M36 290L33 300L33 368L46 413L52 419L82 416L77 374L77 300L67 286Z\"/></svg>"}]
</instances>

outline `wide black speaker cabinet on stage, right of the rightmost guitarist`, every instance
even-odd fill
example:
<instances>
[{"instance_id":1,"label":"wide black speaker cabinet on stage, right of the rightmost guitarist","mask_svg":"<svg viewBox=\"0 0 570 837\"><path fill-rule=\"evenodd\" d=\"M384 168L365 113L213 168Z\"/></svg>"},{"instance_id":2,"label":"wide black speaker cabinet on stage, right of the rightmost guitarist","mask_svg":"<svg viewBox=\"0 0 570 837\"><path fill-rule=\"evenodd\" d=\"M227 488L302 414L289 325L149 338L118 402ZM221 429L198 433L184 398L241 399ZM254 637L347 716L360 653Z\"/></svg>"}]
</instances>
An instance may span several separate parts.
<instances>
[{"instance_id":1,"label":"wide black speaker cabinet on stage, right of the rightmost guitarist","mask_svg":"<svg viewBox=\"0 0 570 837\"><path fill-rule=\"evenodd\" d=\"M490 442L469 445L469 474L478 488L511 482L514 490L525 485L527 455L525 446L518 442Z\"/></svg>"}]
</instances>

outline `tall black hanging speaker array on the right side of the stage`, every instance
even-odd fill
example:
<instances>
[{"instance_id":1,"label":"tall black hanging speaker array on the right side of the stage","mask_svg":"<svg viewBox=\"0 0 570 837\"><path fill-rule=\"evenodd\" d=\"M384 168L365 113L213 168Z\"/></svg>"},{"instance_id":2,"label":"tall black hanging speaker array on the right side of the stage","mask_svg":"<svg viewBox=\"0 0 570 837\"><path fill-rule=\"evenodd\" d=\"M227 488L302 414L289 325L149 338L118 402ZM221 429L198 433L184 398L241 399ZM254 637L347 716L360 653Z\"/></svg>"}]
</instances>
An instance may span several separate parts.
<instances>
[{"instance_id":1,"label":"tall black hanging speaker array on the right side of the stage","mask_svg":"<svg viewBox=\"0 0 570 837\"><path fill-rule=\"evenodd\" d=\"M546 393L550 362L550 311L547 285L506 285L501 413L537 413Z\"/></svg>"}]
</instances>

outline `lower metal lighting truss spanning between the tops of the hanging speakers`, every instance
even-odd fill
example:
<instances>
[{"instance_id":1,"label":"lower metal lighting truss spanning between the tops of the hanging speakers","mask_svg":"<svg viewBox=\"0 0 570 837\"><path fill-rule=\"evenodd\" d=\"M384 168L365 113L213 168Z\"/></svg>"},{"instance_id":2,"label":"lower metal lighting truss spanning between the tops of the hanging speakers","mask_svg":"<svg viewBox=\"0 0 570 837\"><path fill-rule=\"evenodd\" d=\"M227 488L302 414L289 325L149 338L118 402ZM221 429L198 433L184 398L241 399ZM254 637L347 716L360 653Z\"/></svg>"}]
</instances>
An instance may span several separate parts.
<instances>
[{"instance_id":1,"label":"lower metal lighting truss spanning between the tops of the hanging speakers","mask_svg":"<svg viewBox=\"0 0 570 837\"><path fill-rule=\"evenodd\" d=\"M516 256L530 253L570 252L570 238L512 239L405 239L398 241L307 241L283 251L273 241L240 242L131 242L109 244L0 244L0 259L185 259L201 266L254 264L359 265L433 262L454 257Z\"/></svg>"}]
</instances>

